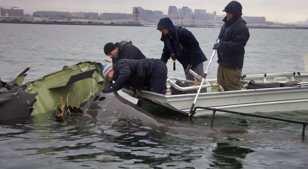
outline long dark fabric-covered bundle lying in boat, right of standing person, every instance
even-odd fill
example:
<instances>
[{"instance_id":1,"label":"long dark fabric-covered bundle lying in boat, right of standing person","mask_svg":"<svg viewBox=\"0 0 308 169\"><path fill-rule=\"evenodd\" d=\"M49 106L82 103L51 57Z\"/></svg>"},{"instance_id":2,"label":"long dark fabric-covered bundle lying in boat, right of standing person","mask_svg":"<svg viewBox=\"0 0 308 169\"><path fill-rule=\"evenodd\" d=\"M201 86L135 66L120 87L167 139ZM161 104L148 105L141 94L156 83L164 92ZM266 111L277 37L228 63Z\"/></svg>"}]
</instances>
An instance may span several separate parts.
<instances>
[{"instance_id":1,"label":"long dark fabric-covered bundle lying in boat, right of standing person","mask_svg":"<svg viewBox=\"0 0 308 169\"><path fill-rule=\"evenodd\" d=\"M287 81L285 83L271 82L271 83L256 83L254 81L240 81L242 88L259 89L259 88L280 88L280 87L300 87L298 81Z\"/></svg>"}]
</instances>

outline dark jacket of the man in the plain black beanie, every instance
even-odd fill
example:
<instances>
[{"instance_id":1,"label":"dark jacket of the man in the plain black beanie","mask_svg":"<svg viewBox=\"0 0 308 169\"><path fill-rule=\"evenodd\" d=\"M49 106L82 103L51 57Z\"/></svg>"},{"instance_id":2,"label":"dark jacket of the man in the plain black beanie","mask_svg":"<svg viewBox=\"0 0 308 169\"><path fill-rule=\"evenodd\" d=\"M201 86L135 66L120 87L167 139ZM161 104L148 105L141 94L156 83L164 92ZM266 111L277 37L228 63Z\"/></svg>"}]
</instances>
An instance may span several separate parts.
<instances>
[{"instance_id":1,"label":"dark jacket of the man in the plain black beanie","mask_svg":"<svg viewBox=\"0 0 308 169\"><path fill-rule=\"evenodd\" d=\"M112 58L112 63L121 59L145 59L144 54L134 45L132 41L120 41L115 43L119 47L118 58Z\"/></svg>"}]
</instances>

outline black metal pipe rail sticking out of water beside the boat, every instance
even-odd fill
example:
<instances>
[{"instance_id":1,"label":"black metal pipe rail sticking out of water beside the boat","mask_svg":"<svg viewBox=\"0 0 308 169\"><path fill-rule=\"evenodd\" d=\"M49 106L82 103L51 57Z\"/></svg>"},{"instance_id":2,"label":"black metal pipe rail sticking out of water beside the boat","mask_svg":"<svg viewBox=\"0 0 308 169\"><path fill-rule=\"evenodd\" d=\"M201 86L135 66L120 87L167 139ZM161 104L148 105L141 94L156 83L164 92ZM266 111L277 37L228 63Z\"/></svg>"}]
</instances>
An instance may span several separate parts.
<instances>
[{"instance_id":1,"label":"black metal pipe rail sticking out of water beside the boat","mask_svg":"<svg viewBox=\"0 0 308 169\"><path fill-rule=\"evenodd\" d=\"M193 112L196 112L197 108L206 109L206 110L213 110L213 115L212 115L211 124L210 124L211 126L213 126L215 112L219 111L219 112L240 114L240 115L245 115L245 116L260 117L260 118L271 119L271 120L285 121L285 122L290 122L290 123L303 124L302 137L305 137L305 128L306 128L307 122L288 120L288 119L281 119L281 118L276 118L276 117L261 116L261 115L248 114L248 113L242 113L242 112L234 112L234 111L230 111L230 110L223 110L223 109L218 109L218 108L208 108L208 107L195 107Z\"/></svg>"}]
</instances>

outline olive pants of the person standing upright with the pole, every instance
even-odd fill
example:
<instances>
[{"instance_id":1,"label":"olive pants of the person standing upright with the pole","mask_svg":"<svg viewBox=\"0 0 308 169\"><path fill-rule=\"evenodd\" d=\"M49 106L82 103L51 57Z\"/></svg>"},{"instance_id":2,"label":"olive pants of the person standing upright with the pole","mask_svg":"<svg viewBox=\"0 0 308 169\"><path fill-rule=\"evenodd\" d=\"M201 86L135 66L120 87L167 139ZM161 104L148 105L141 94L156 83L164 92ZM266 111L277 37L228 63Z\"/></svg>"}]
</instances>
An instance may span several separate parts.
<instances>
[{"instance_id":1,"label":"olive pants of the person standing upright with the pole","mask_svg":"<svg viewBox=\"0 0 308 169\"><path fill-rule=\"evenodd\" d=\"M228 69L219 65L217 69L217 82L225 91L241 90L241 74L242 70Z\"/></svg>"}]
</instances>

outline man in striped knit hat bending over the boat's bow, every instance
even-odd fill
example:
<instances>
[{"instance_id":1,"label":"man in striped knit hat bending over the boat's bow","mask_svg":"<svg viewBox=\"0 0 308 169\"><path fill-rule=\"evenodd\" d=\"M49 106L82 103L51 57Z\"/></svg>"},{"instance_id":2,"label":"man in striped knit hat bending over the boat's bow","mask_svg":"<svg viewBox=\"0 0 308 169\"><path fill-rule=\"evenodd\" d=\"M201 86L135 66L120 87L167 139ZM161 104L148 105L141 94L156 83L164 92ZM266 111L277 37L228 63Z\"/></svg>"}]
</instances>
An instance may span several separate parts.
<instances>
[{"instance_id":1,"label":"man in striped knit hat bending over the boat's bow","mask_svg":"<svg viewBox=\"0 0 308 169\"><path fill-rule=\"evenodd\" d=\"M112 87L102 90L109 93L123 87L144 89L159 94L166 94L167 66L160 59L146 58L140 60L121 59L113 65L103 68L103 78L115 81Z\"/></svg>"}]
</instances>

